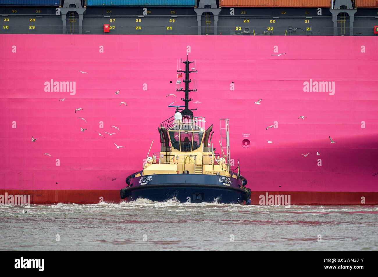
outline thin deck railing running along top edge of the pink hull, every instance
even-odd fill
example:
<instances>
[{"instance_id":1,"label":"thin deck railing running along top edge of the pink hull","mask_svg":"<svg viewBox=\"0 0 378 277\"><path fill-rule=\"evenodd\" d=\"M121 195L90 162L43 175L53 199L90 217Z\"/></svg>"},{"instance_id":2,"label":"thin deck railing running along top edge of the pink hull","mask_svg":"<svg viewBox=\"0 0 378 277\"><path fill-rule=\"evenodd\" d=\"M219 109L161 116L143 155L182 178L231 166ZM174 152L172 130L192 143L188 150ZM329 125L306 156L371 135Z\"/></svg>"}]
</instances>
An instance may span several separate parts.
<instances>
[{"instance_id":1,"label":"thin deck railing running along top edge of the pink hull","mask_svg":"<svg viewBox=\"0 0 378 277\"><path fill-rule=\"evenodd\" d=\"M104 33L102 25L97 26L75 26L74 32L66 26L65 34L128 34L128 35L198 35L198 26L175 26L172 30L167 30L167 26L142 26L136 30L133 26L115 26L116 28L109 33ZM334 31L338 35L350 35L349 28L345 28L345 34L340 27L317 27L317 26L293 26L296 31L287 27L275 26L274 30L267 30L266 26L243 26L248 27L249 32L244 29L236 30L235 26L218 26L217 35L333 35ZM63 34L62 25L4 25L0 26L0 34ZM213 35L214 31L203 35ZM376 35L373 26L370 27L353 27L353 35Z\"/></svg>"}]
</instances>

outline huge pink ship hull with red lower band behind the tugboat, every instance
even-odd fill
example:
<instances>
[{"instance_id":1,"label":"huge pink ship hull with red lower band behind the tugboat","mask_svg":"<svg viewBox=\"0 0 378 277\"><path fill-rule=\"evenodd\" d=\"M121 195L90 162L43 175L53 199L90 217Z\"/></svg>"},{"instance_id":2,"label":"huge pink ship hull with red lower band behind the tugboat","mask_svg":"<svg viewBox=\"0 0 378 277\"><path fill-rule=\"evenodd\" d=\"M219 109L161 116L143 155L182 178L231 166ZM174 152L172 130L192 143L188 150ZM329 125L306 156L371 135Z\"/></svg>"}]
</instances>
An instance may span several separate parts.
<instances>
[{"instance_id":1,"label":"huge pink ship hull with red lower band behind the tugboat","mask_svg":"<svg viewBox=\"0 0 378 277\"><path fill-rule=\"evenodd\" d=\"M375 37L0 35L0 194L98 203L94 190L116 201L152 139L151 151L160 151L156 128L173 115L167 105L181 105L175 70L187 46L198 70L190 107L205 127L214 124L218 150L219 118L230 119L231 158L255 197L290 192L292 204L294 195L297 204L378 203ZM272 56L274 46L287 54ZM51 79L76 82L75 94L45 92ZM335 93L304 92L310 79L335 82ZM274 122L278 128L265 129ZM105 134L117 131L113 125L120 132Z\"/></svg>"}]
</instances>

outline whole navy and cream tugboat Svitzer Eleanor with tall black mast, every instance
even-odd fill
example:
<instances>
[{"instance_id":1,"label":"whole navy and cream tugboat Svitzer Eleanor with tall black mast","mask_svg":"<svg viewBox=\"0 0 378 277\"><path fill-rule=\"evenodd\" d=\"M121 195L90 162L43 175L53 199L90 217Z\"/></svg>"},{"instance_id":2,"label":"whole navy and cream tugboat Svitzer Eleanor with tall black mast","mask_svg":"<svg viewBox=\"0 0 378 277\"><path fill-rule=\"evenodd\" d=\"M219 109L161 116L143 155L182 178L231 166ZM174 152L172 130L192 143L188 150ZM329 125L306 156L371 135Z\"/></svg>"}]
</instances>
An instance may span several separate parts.
<instances>
[{"instance_id":1,"label":"whole navy and cream tugboat Svitzer Eleanor with tall black mast","mask_svg":"<svg viewBox=\"0 0 378 277\"><path fill-rule=\"evenodd\" d=\"M177 92L185 92L185 98L181 98L185 105L172 106L172 103L168 106L176 111L158 128L160 152L153 153L152 157L147 154L143 169L126 178L127 186L120 190L121 199L127 202L144 198L158 202L175 199L182 203L249 205L251 190L245 188L247 180L240 175L239 160L237 172L233 172L230 166L229 120L220 119L222 154L217 154L212 143L213 125L205 130L204 118L201 120L201 117L193 116L192 111L197 111L197 108L189 109L192 101L189 92L197 91L197 88L189 89L192 82L189 74L197 70L189 70L193 62L189 62L187 57L180 63L185 64L185 70L177 70L177 79L185 74L185 88L178 88ZM177 84L180 83L178 80Z\"/></svg>"}]
</instances>

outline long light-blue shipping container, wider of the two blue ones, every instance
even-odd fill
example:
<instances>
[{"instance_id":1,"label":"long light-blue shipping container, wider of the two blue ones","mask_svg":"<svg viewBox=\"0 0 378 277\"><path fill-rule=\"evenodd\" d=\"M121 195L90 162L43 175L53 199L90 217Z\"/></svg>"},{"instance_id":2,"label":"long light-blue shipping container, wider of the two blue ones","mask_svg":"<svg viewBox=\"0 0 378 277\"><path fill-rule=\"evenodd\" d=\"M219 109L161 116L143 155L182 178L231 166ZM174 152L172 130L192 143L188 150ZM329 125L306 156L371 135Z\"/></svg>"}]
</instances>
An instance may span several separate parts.
<instances>
[{"instance_id":1,"label":"long light-blue shipping container, wider of the two blue ones","mask_svg":"<svg viewBox=\"0 0 378 277\"><path fill-rule=\"evenodd\" d=\"M196 0L87 0L87 6L189 6Z\"/></svg>"}]
</instances>

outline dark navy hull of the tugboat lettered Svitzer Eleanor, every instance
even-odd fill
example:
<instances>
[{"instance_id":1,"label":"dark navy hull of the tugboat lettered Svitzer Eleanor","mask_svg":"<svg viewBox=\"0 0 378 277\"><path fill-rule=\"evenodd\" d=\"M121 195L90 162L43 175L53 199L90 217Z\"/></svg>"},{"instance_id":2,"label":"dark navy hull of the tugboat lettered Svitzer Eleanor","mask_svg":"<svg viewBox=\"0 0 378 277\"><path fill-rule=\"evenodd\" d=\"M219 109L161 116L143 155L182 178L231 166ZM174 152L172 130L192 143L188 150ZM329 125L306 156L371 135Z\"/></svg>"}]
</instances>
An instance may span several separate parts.
<instances>
[{"instance_id":1,"label":"dark navy hull of the tugboat lettered Svitzer Eleanor","mask_svg":"<svg viewBox=\"0 0 378 277\"><path fill-rule=\"evenodd\" d=\"M175 199L181 203L241 204L246 197L240 180L204 174L144 175L131 179L120 194L128 202L144 198L159 202Z\"/></svg>"}]
</instances>

